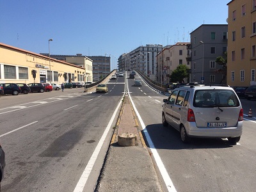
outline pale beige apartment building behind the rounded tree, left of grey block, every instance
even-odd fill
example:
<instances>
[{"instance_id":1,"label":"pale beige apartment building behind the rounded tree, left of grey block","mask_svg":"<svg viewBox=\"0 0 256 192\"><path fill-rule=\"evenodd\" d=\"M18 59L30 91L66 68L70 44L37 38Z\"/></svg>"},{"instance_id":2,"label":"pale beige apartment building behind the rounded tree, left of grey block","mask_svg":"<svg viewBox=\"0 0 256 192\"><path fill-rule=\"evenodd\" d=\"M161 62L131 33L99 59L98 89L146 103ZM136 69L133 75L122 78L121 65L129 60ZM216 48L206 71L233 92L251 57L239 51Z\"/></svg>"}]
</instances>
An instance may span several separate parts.
<instances>
[{"instance_id":1,"label":"pale beige apartment building behind the rounded tree, left of grey block","mask_svg":"<svg viewBox=\"0 0 256 192\"><path fill-rule=\"evenodd\" d=\"M190 55L187 49L189 44L189 42L178 42L175 45L164 47L163 51L157 54L159 83L171 83L170 75L179 65L183 64L190 68L190 62L186 59ZM187 79L184 80L187 81Z\"/></svg>"}]
</instances>

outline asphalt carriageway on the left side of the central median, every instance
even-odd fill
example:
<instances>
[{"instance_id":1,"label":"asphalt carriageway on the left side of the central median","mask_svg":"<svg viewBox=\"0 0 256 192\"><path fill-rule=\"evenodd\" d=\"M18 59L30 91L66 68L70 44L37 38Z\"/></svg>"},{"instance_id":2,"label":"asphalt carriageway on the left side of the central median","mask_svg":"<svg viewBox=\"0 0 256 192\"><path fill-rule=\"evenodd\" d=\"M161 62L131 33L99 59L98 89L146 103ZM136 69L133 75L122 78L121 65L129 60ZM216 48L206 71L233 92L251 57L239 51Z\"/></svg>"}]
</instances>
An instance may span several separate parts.
<instances>
[{"instance_id":1,"label":"asphalt carriageway on the left side of the central median","mask_svg":"<svg viewBox=\"0 0 256 192\"><path fill-rule=\"evenodd\" d=\"M107 94L73 88L1 97L0 140L6 153L1 191L74 191L124 95L124 79L112 81ZM116 116L84 191L95 187L115 121Z\"/></svg>"}]
</instances>

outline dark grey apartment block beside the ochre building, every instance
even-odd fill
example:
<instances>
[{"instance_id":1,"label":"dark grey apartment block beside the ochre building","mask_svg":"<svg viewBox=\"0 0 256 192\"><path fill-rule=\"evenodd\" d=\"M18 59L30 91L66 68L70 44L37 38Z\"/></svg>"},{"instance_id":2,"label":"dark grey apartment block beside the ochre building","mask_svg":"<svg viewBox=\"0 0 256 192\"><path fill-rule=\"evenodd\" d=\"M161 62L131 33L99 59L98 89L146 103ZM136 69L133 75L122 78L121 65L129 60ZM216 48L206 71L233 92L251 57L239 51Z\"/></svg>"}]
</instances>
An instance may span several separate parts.
<instances>
[{"instance_id":1,"label":"dark grey apartment block beside the ochre building","mask_svg":"<svg viewBox=\"0 0 256 192\"><path fill-rule=\"evenodd\" d=\"M227 51L227 24L203 24L190 33L191 82L225 84L225 74L216 63L218 56Z\"/></svg>"}]
</instances>

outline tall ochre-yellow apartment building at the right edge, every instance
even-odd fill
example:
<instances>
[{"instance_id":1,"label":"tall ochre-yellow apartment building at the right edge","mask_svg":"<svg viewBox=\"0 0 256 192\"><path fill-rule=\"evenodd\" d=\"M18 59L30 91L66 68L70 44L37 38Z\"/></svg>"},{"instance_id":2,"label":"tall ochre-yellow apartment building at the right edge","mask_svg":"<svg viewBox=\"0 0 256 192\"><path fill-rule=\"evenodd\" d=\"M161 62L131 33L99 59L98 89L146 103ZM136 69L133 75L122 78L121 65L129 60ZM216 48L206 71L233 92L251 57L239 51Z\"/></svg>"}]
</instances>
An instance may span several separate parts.
<instances>
[{"instance_id":1,"label":"tall ochre-yellow apartment building at the right edge","mask_svg":"<svg viewBox=\"0 0 256 192\"><path fill-rule=\"evenodd\" d=\"M227 84L256 84L256 0L228 4Z\"/></svg>"}]
</instances>

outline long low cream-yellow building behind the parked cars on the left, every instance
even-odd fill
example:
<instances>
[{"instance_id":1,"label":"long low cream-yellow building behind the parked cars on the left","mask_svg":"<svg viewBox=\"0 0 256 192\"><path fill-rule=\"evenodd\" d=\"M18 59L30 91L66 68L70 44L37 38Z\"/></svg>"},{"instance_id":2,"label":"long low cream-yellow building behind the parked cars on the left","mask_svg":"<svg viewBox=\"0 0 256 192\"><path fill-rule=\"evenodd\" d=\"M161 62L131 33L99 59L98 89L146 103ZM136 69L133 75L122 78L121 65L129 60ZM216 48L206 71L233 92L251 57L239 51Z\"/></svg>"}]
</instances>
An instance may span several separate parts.
<instances>
[{"instance_id":1,"label":"long low cream-yellow building behind the parked cars on the left","mask_svg":"<svg viewBox=\"0 0 256 192\"><path fill-rule=\"evenodd\" d=\"M92 79L92 60L79 62L86 68L0 43L0 83L60 84Z\"/></svg>"}]
</instances>

